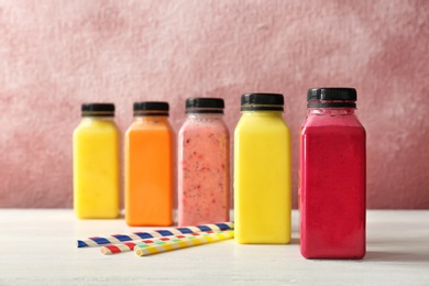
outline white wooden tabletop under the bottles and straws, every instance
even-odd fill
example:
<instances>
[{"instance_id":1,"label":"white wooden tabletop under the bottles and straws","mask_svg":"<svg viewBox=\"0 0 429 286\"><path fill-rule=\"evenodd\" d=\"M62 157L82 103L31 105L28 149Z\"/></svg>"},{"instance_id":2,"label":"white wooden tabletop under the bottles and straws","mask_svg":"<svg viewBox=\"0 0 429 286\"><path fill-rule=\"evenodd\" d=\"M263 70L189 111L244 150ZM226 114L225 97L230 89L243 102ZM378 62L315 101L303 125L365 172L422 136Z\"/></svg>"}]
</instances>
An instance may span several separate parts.
<instances>
[{"instance_id":1,"label":"white wooden tabletop under the bottles and straws","mask_svg":"<svg viewBox=\"0 0 429 286\"><path fill-rule=\"evenodd\" d=\"M233 240L139 257L77 249L76 239L143 228L77 220L69 209L0 209L0 285L429 285L429 210L367 211L363 261L308 261L298 213L289 245Z\"/></svg>"}]
</instances>

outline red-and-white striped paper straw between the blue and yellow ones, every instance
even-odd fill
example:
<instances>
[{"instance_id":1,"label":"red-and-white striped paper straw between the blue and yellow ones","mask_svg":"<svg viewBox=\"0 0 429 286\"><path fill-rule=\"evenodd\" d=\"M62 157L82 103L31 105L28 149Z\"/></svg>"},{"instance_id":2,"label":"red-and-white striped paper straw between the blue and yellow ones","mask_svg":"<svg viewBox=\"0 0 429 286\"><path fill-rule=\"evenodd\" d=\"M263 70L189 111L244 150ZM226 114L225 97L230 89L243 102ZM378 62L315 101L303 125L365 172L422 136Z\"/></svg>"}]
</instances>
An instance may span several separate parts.
<instances>
[{"instance_id":1,"label":"red-and-white striped paper straw between the blue and yellow ones","mask_svg":"<svg viewBox=\"0 0 429 286\"><path fill-rule=\"evenodd\" d=\"M155 244L158 241L170 242L174 239L191 238L191 237L202 235L202 233L213 233L213 231L194 232L190 234L178 234L178 235L163 237L163 238L157 238L157 239L152 239L152 240L129 241L129 242L124 242L124 243L101 246L100 251L102 254L112 255L112 254L118 254L118 253L122 253L122 252L133 251L135 245L141 244L141 243L148 245L148 244Z\"/></svg>"}]
</instances>

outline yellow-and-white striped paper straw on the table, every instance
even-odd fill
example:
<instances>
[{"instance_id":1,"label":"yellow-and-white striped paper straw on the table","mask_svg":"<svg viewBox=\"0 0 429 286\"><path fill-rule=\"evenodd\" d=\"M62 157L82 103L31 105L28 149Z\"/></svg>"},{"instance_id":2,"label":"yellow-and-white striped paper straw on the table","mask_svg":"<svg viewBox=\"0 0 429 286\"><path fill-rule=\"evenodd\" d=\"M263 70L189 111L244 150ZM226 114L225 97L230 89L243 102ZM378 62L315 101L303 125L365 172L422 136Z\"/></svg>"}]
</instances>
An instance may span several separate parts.
<instances>
[{"instance_id":1,"label":"yellow-and-white striped paper straw on the table","mask_svg":"<svg viewBox=\"0 0 429 286\"><path fill-rule=\"evenodd\" d=\"M233 230L217 231L215 233L201 233L198 237L189 238L175 238L172 241L157 241L155 244L138 243L134 248L134 252L139 256L151 255L161 252L167 252L178 249L185 249L206 244L215 241L228 240L234 237Z\"/></svg>"}]
</instances>

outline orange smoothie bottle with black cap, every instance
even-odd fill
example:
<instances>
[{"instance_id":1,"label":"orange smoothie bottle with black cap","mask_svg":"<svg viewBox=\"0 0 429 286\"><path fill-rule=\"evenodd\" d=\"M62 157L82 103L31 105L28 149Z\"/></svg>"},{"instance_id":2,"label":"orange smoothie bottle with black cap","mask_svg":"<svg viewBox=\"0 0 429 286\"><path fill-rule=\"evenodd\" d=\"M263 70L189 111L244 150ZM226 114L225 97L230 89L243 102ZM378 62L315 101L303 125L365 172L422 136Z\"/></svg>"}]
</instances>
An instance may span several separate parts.
<instances>
[{"instance_id":1,"label":"orange smoothie bottle with black cap","mask_svg":"<svg viewBox=\"0 0 429 286\"><path fill-rule=\"evenodd\" d=\"M174 134L168 103L134 103L125 134L125 221L129 226L172 226Z\"/></svg>"}]
</instances>

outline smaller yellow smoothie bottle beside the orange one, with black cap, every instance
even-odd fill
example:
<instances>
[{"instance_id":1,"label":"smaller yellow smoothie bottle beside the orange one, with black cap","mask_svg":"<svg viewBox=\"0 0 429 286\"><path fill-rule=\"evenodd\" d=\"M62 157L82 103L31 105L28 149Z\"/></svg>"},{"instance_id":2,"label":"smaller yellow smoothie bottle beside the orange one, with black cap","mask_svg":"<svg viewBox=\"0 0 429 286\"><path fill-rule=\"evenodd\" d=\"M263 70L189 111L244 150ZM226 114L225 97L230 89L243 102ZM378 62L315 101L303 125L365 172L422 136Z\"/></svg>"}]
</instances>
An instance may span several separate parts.
<instances>
[{"instance_id":1,"label":"smaller yellow smoothie bottle beside the orange one, with black cap","mask_svg":"<svg viewBox=\"0 0 429 286\"><path fill-rule=\"evenodd\" d=\"M73 133L74 209L79 219L119 216L120 132L112 103L84 103Z\"/></svg>"}]
</instances>

